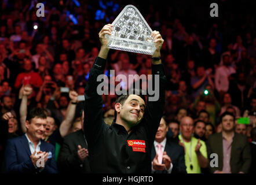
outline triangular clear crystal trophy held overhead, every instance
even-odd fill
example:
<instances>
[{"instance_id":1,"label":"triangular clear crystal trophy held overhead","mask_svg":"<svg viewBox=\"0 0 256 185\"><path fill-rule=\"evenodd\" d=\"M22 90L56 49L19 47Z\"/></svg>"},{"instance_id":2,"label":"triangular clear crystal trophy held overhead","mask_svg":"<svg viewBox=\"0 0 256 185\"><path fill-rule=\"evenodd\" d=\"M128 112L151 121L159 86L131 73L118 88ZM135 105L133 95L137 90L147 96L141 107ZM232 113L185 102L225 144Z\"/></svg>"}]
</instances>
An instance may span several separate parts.
<instances>
[{"instance_id":1,"label":"triangular clear crystal trophy held overhead","mask_svg":"<svg viewBox=\"0 0 256 185\"><path fill-rule=\"evenodd\" d=\"M108 48L149 55L155 52L152 29L135 6L125 6L112 25L111 35L105 35Z\"/></svg>"}]
</instances>

